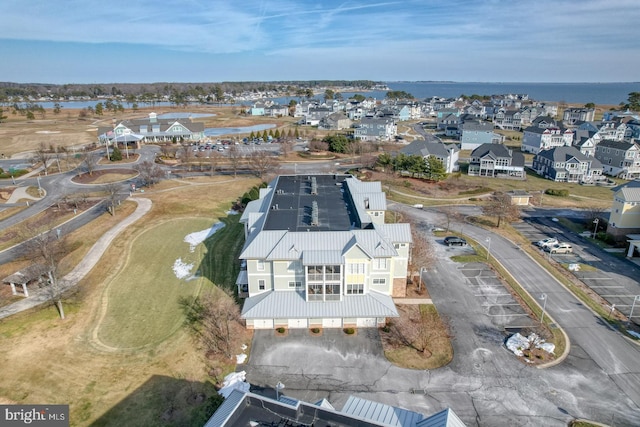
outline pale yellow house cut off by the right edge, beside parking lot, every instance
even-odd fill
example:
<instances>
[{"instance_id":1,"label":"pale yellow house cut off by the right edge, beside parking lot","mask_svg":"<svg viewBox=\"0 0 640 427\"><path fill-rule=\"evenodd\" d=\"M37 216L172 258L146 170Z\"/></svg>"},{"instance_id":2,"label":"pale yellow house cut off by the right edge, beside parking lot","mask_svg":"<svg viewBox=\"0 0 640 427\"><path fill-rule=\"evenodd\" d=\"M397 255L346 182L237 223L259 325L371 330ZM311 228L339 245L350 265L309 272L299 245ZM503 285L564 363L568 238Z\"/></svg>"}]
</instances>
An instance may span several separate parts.
<instances>
[{"instance_id":1,"label":"pale yellow house cut off by the right edge, beside parking lot","mask_svg":"<svg viewBox=\"0 0 640 427\"><path fill-rule=\"evenodd\" d=\"M613 204L609 214L607 233L617 238L640 233L640 180L634 180L613 188ZM640 246L636 236L627 256L633 256Z\"/></svg>"}]
</instances>

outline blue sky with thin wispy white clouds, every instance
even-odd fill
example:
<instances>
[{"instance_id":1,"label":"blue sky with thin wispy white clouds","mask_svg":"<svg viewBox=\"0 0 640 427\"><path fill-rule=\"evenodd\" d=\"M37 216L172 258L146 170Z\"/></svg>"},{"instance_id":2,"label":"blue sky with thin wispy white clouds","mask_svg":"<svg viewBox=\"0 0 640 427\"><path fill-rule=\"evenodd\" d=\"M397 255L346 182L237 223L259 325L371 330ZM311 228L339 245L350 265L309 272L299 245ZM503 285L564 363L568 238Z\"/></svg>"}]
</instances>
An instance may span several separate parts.
<instances>
[{"instance_id":1,"label":"blue sky with thin wispy white clouds","mask_svg":"<svg viewBox=\"0 0 640 427\"><path fill-rule=\"evenodd\" d=\"M4 0L0 80L630 82L637 0Z\"/></svg>"}]
</instances>

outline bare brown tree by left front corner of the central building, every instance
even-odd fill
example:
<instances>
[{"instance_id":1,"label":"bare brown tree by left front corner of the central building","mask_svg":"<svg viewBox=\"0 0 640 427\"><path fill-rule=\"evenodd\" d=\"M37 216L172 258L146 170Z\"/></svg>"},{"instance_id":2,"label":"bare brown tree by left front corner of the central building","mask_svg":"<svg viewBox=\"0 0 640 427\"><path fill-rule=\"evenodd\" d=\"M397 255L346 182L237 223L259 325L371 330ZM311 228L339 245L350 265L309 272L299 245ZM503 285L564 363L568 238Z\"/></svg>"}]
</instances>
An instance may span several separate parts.
<instances>
[{"instance_id":1,"label":"bare brown tree by left front corner of the central building","mask_svg":"<svg viewBox=\"0 0 640 427\"><path fill-rule=\"evenodd\" d=\"M240 324L240 308L233 295L221 289L195 300L181 299L186 324L207 352L233 356L233 340Z\"/></svg>"}]
</instances>

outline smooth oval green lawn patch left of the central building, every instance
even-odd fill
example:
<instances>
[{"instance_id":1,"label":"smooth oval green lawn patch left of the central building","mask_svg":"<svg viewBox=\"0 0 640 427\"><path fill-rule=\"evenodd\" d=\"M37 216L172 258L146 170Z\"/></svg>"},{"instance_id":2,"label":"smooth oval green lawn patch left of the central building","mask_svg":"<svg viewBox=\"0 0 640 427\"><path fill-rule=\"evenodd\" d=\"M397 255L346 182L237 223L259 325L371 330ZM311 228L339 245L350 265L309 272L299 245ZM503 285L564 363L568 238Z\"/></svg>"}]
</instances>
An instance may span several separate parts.
<instances>
[{"instance_id":1,"label":"smooth oval green lawn patch left of the central building","mask_svg":"<svg viewBox=\"0 0 640 427\"><path fill-rule=\"evenodd\" d=\"M206 278L178 279L178 258L200 265L205 246L189 252L186 235L209 228L211 220L177 219L146 230L132 243L128 262L107 289L107 308L98 329L100 340L116 348L139 348L162 342L180 328L180 297L196 295ZM223 229L224 230L224 229Z\"/></svg>"}]
</instances>

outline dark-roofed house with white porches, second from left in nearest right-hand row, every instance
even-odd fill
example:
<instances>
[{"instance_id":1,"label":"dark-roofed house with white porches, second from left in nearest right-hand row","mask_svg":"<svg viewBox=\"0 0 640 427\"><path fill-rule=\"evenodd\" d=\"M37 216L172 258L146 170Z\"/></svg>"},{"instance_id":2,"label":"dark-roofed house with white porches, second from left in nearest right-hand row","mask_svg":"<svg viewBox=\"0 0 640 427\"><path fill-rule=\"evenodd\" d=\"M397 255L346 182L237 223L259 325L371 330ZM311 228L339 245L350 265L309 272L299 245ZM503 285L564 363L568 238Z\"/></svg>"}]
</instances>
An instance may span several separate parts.
<instances>
[{"instance_id":1,"label":"dark-roofed house with white porches, second from left in nearest right-hand row","mask_svg":"<svg viewBox=\"0 0 640 427\"><path fill-rule=\"evenodd\" d=\"M482 144L471 152L471 176L524 179L524 156L504 144Z\"/></svg>"}]
</instances>

